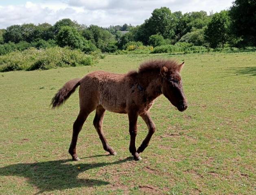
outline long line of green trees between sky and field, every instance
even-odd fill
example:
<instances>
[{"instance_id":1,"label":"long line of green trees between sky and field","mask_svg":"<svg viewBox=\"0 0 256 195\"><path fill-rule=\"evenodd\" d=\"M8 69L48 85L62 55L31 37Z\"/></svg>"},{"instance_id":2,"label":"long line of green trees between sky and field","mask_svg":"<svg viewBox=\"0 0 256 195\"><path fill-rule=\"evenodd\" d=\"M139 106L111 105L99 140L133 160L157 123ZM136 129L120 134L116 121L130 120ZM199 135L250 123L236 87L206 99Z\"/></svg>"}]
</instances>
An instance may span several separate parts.
<instances>
[{"instance_id":1,"label":"long line of green trees between sky and field","mask_svg":"<svg viewBox=\"0 0 256 195\"><path fill-rule=\"evenodd\" d=\"M161 7L138 26L103 28L70 19L59 20L54 25L12 25L0 30L0 55L56 45L90 53L126 50L130 45L157 47L183 42L206 48L256 46L256 1L235 0L230 9L210 15L205 11L182 14Z\"/></svg>"}]
</instances>

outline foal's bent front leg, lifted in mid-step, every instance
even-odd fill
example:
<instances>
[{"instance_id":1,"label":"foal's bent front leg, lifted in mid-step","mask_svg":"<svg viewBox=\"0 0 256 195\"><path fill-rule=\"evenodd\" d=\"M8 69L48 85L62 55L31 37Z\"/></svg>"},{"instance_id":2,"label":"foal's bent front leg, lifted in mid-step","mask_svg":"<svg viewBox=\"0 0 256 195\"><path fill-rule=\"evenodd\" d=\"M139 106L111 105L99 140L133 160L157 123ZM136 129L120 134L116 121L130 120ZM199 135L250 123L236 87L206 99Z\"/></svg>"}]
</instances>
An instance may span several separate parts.
<instances>
[{"instance_id":1,"label":"foal's bent front leg, lifted in mid-step","mask_svg":"<svg viewBox=\"0 0 256 195\"><path fill-rule=\"evenodd\" d=\"M138 148L138 150L137 150L138 154L140 154L140 152L143 152L145 150L145 148L149 145L149 141L150 141L153 133L155 132L155 124L150 117L149 111L147 111L146 113L143 113L140 116L147 124L149 132L148 132L146 138L142 141L142 144L140 145L140 147Z\"/></svg>"}]
</instances>

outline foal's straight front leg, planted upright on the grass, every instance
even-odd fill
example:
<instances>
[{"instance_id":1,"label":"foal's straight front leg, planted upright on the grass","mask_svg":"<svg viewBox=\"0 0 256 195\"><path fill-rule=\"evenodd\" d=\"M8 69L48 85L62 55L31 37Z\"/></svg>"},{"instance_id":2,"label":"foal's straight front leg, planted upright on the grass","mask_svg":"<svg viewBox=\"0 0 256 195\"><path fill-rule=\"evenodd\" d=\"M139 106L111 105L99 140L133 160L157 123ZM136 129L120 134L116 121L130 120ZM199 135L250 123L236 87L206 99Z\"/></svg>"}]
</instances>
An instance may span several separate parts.
<instances>
[{"instance_id":1,"label":"foal's straight front leg, planted upright on the grass","mask_svg":"<svg viewBox=\"0 0 256 195\"><path fill-rule=\"evenodd\" d=\"M129 112L128 118L129 118L129 133L131 136L129 151L133 155L134 160L141 160L140 155L136 151L136 146L135 146L135 139L136 139L136 135L137 135L138 113Z\"/></svg>"}]
</instances>

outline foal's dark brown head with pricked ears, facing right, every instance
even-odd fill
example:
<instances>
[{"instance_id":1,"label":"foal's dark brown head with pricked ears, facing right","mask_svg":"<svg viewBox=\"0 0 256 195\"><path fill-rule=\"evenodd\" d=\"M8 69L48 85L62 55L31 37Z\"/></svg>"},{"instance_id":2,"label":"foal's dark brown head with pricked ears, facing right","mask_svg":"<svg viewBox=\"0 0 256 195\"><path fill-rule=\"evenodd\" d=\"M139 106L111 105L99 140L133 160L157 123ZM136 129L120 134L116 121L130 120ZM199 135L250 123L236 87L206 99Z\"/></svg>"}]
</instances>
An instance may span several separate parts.
<instances>
[{"instance_id":1,"label":"foal's dark brown head with pricked ears, facing right","mask_svg":"<svg viewBox=\"0 0 256 195\"><path fill-rule=\"evenodd\" d=\"M184 65L184 62L177 64L173 61L166 61L166 65L162 65L160 68L160 74L162 76L162 88L161 91L164 96L177 107L179 111L183 112L187 109L187 100L183 92L182 78L179 72Z\"/></svg>"}]
</instances>

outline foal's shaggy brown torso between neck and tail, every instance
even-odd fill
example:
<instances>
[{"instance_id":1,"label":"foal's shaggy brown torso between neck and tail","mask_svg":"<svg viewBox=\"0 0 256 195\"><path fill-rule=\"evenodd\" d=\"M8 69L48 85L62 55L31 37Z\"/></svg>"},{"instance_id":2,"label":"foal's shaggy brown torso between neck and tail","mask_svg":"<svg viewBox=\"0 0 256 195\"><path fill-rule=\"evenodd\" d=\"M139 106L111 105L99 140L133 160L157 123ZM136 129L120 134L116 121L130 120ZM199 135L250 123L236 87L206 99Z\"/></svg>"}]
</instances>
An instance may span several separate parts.
<instances>
[{"instance_id":1,"label":"foal's shaggy brown torso between neck and tail","mask_svg":"<svg viewBox=\"0 0 256 195\"><path fill-rule=\"evenodd\" d=\"M130 92L129 82L131 78L127 74L91 72L80 81L80 104L91 101L102 105L108 111L126 113L126 100Z\"/></svg>"}]
</instances>

